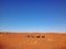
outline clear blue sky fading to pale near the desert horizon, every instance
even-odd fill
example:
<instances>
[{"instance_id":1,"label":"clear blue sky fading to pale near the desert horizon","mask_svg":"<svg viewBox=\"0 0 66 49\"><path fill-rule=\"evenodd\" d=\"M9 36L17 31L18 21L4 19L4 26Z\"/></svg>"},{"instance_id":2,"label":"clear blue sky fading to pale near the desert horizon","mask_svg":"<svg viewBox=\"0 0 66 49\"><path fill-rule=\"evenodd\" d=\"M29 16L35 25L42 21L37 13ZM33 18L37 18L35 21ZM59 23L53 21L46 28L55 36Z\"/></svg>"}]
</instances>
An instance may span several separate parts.
<instances>
[{"instance_id":1,"label":"clear blue sky fading to pale near the desert horizon","mask_svg":"<svg viewBox=\"0 0 66 49\"><path fill-rule=\"evenodd\" d=\"M66 0L0 0L1 32L66 32Z\"/></svg>"}]
</instances>

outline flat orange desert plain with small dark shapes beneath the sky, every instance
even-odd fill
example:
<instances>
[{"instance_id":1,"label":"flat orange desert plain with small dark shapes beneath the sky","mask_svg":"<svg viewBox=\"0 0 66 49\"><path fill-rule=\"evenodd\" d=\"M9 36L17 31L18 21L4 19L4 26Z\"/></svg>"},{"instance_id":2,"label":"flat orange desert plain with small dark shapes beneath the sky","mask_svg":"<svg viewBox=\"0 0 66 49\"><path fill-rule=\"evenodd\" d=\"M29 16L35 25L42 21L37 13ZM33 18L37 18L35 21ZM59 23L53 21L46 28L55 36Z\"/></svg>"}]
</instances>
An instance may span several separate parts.
<instances>
[{"instance_id":1,"label":"flat orange desert plain with small dark shapes beneath the sky","mask_svg":"<svg viewBox=\"0 0 66 49\"><path fill-rule=\"evenodd\" d=\"M0 49L66 49L66 34L0 32Z\"/></svg>"}]
</instances>

